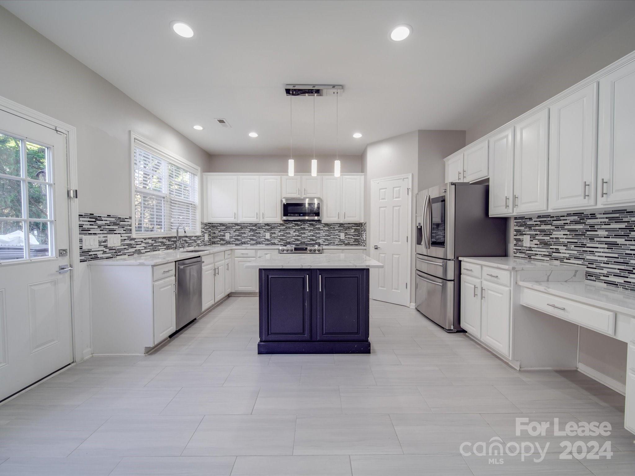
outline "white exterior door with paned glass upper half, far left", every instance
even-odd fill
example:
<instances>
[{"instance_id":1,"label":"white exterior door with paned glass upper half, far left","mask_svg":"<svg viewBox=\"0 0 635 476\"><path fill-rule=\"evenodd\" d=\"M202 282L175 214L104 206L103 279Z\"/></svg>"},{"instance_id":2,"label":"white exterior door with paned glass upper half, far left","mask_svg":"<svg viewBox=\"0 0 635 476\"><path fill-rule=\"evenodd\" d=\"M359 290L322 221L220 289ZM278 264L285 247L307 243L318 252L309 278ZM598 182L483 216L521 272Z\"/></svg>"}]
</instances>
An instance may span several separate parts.
<instances>
[{"instance_id":1,"label":"white exterior door with paned glass upper half, far left","mask_svg":"<svg viewBox=\"0 0 635 476\"><path fill-rule=\"evenodd\" d=\"M72 362L66 137L0 110L0 400Z\"/></svg>"}]
</instances>

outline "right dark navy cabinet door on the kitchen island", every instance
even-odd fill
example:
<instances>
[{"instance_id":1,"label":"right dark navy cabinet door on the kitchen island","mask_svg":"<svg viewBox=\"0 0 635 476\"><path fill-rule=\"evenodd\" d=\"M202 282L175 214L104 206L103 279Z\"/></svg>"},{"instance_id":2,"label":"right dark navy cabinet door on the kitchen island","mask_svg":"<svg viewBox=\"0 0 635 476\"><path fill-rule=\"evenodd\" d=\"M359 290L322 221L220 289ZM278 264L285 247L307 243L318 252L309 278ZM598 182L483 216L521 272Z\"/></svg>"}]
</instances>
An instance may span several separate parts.
<instances>
[{"instance_id":1,"label":"right dark navy cabinet door on the kitchen island","mask_svg":"<svg viewBox=\"0 0 635 476\"><path fill-rule=\"evenodd\" d=\"M368 340L368 270L318 270L316 281L317 340Z\"/></svg>"}]
</instances>

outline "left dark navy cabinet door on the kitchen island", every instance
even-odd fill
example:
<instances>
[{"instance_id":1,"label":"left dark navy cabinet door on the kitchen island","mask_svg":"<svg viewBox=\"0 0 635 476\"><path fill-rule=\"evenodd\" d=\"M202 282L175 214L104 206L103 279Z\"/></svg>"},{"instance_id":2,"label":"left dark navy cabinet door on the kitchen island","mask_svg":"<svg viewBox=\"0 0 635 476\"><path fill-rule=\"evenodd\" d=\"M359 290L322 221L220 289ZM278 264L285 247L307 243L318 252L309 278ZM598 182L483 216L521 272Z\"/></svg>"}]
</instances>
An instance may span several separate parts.
<instances>
[{"instance_id":1,"label":"left dark navy cabinet door on the kitchen island","mask_svg":"<svg viewBox=\"0 0 635 476\"><path fill-rule=\"evenodd\" d=\"M311 340L311 271L260 270L260 340Z\"/></svg>"}]
</instances>

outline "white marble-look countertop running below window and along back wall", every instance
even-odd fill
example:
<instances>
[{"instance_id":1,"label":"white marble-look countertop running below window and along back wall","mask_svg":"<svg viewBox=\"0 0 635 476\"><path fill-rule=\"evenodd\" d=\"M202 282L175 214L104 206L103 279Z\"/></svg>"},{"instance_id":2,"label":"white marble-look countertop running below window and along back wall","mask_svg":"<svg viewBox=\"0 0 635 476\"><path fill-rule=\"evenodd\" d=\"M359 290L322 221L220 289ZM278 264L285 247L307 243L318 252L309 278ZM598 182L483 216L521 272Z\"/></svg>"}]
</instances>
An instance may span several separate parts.
<instances>
[{"instance_id":1,"label":"white marble-look countertop running below window and along back wall","mask_svg":"<svg viewBox=\"0 0 635 476\"><path fill-rule=\"evenodd\" d=\"M112 266L112 265L127 265L127 266L156 266L170 263L172 261L186 260L187 258L195 258L196 256L206 256L211 253L220 253L221 251L229 251L232 249L271 249L276 250L279 247L277 245L249 245L241 246L235 244L229 245L215 245L215 246L192 246L190 248L184 248L180 251L175 249L166 249L164 251L152 251L150 253L142 253L140 255L132 256L117 256L117 258L110 258L108 260L95 260L88 261L88 265L91 266ZM337 246L327 245L323 246L324 249L366 249L365 246ZM197 249L201 251L187 251L191 249ZM337 255L330 255L337 256Z\"/></svg>"}]
</instances>

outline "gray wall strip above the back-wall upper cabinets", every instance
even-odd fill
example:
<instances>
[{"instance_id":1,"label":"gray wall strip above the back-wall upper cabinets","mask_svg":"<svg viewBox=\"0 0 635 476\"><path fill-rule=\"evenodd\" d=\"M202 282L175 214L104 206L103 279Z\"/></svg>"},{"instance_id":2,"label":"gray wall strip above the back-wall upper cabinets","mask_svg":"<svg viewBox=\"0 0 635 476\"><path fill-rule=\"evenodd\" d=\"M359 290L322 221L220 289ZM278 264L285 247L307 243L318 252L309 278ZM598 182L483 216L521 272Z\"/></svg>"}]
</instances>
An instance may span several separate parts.
<instances>
[{"instance_id":1,"label":"gray wall strip above the back-wall upper cabinets","mask_svg":"<svg viewBox=\"0 0 635 476\"><path fill-rule=\"evenodd\" d=\"M286 173L289 155L211 155L209 172L228 173ZM361 155L340 155L342 173L360 173ZM294 155L293 168L297 173L311 172L309 155ZM334 155L316 155L318 173L333 173Z\"/></svg>"}]
</instances>

